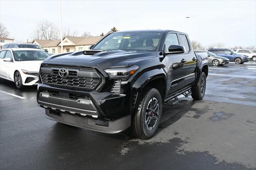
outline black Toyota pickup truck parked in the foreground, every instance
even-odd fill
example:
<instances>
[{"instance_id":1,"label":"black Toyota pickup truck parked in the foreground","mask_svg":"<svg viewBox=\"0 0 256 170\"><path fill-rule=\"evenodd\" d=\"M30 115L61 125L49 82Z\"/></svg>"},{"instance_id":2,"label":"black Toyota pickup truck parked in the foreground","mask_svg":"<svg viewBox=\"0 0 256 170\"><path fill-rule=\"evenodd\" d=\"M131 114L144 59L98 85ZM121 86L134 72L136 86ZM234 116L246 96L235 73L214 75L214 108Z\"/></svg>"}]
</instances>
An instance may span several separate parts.
<instances>
[{"instance_id":1,"label":"black Toyota pickup truck parked in the foreground","mask_svg":"<svg viewBox=\"0 0 256 170\"><path fill-rule=\"evenodd\" d=\"M162 103L204 97L207 53L172 30L114 32L90 50L48 57L40 67L37 102L48 119L106 133L131 127L148 139Z\"/></svg>"}]
</instances>

